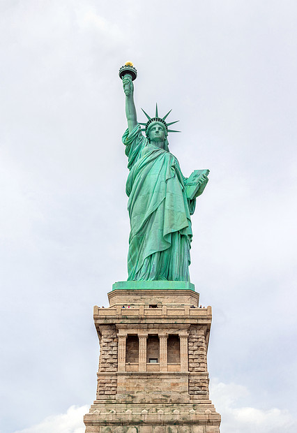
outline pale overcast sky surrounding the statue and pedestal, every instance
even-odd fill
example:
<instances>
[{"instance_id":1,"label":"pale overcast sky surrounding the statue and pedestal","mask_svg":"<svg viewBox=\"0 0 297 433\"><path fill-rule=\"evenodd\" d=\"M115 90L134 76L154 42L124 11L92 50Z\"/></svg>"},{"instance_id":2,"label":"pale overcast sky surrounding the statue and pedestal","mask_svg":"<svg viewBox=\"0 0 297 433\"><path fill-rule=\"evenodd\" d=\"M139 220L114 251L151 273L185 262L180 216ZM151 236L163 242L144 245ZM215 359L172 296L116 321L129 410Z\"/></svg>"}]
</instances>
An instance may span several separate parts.
<instances>
[{"instance_id":1,"label":"pale overcast sky surrounding the statue and pedestal","mask_svg":"<svg viewBox=\"0 0 297 433\"><path fill-rule=\"evenodd\" d=\"M93 305L127 278L126 127L172 108L209 168L191 281L221 433L296 433L296 0L1 0L1 433L83 433Z\"/></svg>"}]
</instances>

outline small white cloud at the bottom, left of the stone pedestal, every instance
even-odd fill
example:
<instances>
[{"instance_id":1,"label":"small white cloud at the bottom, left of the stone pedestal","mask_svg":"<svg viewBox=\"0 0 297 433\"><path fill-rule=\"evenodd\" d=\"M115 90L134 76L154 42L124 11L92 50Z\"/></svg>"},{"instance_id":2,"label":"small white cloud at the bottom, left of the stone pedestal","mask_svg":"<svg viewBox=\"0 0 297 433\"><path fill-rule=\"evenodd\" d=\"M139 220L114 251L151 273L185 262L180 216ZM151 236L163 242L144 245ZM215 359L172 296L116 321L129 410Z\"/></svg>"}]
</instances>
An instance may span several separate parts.
<instances>
[{"instance_id":1,"label":"small white cloud at the bottom, left of the stone pedestal","mask_svg":"<svg viewBox=\"0 0 297 433\"><path fill-rule=\"evenodd\" d=\"M66 413L48 416L40 424L15 433L84 433L83 416L87 412L89 406L71 406Z\"/></svg>"}]
</instances>

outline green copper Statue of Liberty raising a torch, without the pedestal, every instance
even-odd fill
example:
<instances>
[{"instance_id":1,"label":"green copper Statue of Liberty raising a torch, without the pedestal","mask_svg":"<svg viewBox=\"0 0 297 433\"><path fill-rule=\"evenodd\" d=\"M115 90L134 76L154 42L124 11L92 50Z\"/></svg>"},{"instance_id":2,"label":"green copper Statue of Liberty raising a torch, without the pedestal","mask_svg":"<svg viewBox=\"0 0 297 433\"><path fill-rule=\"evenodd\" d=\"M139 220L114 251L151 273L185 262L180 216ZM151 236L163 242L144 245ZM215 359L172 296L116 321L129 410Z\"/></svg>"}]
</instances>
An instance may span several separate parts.
<instances>
[{"instance_id":1,"label":"green copper Statue of Liberty raising a torch, without the pedestal","mask_svg":"<svg viewBox=\"0 0 297 433\"><path fill-rule=\"evenodd\" d=\"M177 132L168 129L175 122L165 122L169 113L159 117L156 106L155 117L144 112L148 122L137 122L132 82L136 70L132 64L129 67L135 76L120 75L128 121L122 140L130 170L126 183L131 228L128 281L190 281L190 215L208 182L209 172L195 170L189 178L183 176L176 157L169 152L168 132Z\"/></svg>"}]
</instances>

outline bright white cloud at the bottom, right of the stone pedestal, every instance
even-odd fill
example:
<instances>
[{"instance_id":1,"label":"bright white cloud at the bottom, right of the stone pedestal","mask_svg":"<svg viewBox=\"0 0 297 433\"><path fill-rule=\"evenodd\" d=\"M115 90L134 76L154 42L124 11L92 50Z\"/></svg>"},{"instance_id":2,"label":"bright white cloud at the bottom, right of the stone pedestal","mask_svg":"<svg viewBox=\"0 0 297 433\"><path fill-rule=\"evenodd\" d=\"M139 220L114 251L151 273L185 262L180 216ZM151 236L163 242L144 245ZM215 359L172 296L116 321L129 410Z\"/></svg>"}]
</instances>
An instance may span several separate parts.
<instances>
[{"instance_id":1,"label":"bright white cloud at the bottom, right of the stone pedestal","mask_svg":"<svg viewBox=\"0 0 297 433\"><path fill-rule=\"evenodd\" d=\"M222 416L221 433L296 432L297 420L287 410L241 406L239 400L249 394L247 388L236 383L212 381L211 398Z\"/></svg>"}]
</instances>

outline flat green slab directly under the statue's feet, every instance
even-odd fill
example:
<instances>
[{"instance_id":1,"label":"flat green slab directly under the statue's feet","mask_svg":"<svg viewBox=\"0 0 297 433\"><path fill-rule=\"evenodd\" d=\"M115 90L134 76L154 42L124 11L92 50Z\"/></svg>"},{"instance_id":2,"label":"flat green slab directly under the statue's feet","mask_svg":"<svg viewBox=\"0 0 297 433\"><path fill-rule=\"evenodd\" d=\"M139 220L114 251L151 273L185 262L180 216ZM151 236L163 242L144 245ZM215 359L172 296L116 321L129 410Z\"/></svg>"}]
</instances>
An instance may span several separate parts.
<instances>
[{"instance_id":1,"label":"flat green slab directly under the statue's feet","mask_svg":"<svg viewBox=\"0 0 297 433\"><path fill-rule=\"evenodd\" d=\"M190 281L117 281L112 290L192 290L195 285Z\"/></svg>"}]
</instances>

